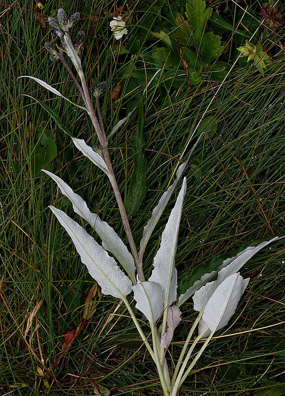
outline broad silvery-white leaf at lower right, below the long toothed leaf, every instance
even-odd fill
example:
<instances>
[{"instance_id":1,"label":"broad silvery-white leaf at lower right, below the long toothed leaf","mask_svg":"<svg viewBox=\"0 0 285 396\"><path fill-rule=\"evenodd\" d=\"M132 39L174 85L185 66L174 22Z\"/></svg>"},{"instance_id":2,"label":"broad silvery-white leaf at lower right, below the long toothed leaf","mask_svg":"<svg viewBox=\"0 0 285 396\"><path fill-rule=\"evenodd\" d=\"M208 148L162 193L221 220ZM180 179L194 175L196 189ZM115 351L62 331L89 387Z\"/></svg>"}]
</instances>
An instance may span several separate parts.
<instances>
[{"instance_id":1,"label":"broad silvery-white leaf at lower right, below the long toothed leaf","mask_svg":"<svg viewBox=\"0 0 285 396\"><path fill-rule=\"evenodd\" d=\"M238 273L228 276L210 297L202 319L209 327L209 331L203 334L207 337L212 331L222 329L227 325L234 314L237 304L249 283L249 279L243 279ZM202 328L200 331L204 332Z\"/></svg>"}]
</instances>

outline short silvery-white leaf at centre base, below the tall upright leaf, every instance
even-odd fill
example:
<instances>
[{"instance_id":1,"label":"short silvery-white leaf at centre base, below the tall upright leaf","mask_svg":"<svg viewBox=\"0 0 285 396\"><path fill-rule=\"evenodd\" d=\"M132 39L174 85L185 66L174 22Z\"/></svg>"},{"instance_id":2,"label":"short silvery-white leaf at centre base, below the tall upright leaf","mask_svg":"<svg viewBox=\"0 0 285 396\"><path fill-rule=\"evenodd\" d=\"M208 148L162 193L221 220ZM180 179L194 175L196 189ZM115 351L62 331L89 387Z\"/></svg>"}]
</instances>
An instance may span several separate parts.
<instances>
[{"instance_id":1,"label":"short silvery-white leaf at centre base, below the tall upright leaf","mask_svg":"<svg viewBox=\"0 0 285 396\"><path fill-rule=\"evenodd\" d=\"M138 308L148 319L151 326L164 311L164 292L158 283L138 282L132 287Z\"/></svg>"}]
</instances>

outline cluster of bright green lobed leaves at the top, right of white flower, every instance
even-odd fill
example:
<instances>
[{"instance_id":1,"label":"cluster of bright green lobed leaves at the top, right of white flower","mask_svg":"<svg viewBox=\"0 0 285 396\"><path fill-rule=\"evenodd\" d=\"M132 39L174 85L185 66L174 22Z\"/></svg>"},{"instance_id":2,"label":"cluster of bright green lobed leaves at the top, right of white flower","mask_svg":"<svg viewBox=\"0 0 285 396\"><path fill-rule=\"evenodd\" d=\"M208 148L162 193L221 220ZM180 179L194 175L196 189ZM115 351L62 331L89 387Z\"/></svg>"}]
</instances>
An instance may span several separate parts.
<instances>
[{"instance_id":1,"label":"cluster of bright green lobed leaves at the top, right of white flower","mask_svg":"<svg viewBox=\"0 0 285 396\"><path fill-rule=\"evenodd\" d=\"M178 14L173 32L151 33L166 46L153 50L152 56L160 65L179 67L182 62L193 85L201 81L202 72L210 74L212 80L222 81L230 67L217 61L224 46L221 38L207 29L211 15L212 9L206 9L204 0L193 0L193 5L186 4L186 19Z\"/></svg>"}]
</instances>

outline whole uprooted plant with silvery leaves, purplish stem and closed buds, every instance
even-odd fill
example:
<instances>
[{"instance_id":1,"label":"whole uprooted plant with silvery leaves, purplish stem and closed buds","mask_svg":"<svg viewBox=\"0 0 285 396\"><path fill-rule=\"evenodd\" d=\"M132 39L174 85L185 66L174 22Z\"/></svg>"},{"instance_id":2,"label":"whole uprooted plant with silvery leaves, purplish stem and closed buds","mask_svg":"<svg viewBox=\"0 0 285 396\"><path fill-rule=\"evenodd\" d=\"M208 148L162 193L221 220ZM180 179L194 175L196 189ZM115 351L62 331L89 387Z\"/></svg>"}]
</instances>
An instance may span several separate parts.
<instances>
[{"instance_id":1,"label":"whole uprooted plant with silvery leaves, purplish stem and closed buds","mask_svg":"<svg viewBox=\"0 0 285 396\"><path fill-rule=\"evenodd\" d=\"M162 194L157 206L153 209L151 218L142 230L140 248L137 249L126 209L117 186L108 151L108 139L127 121L133 112L129 113L123 120L120 120L113 127L109 137L106 137L99 106L99 96L105 92L106 83L100 83L94 90L99 117L98 121L87 87L84 71L82 69L78 46L76 48L76 44L72 44L68 33L68 29L72 27L78 19L78 13L68 19L66 13L62 9L58 11L57 19L50 18L50 25L59 37L61 46L56 47L52 43L48 43L46 44L46 48L51 52L53 57L57 57L57 59L62 61L76 84L78 91L82 96L84 106L80 106L75 103L73 104L87 112L91 118L100 143L100 150L93 150L93 148L88 146L83 139L78 139L72 136L61 123L54 110L52 110L46 103L39 101L38 99L35 100L43 105L43 107L58 123L58 126L71 136L75 147L82 152L84 156L89 158L89 160L108 177L119 207L121 220L125 228L131 251L112 227L102 221L97 213L92 213L89 210L82 197L74 193L59 176L43 169L43 171L57 183L61 193L71 201L74 212L79 214L93 227L101 238L102 244L100 245L97 243L83 227L79 226L79 224L68 217L68 215L62 210L57 209L54 206L50 206L50 208L60 224L71 237L80 259L86 265L90 275L101 286L102 293L118 298L125 303L130 316L132 317L134 324L155 363L164 395L175 396L183 381L196 364L203 350L205 350L209 344L214 333L225 327L231 316L234 314L237 304L242 294L245 292L249 282L249 279L243 279L239 274L240 269L256 253L258 253L260 249L280 238L274 237L268 241L259 243L257 246L247 247L234 257L224 260L217 271L204 273L200 279L194 282L194 284L189 285L189 288L185 293L177 296L177 270L175 268L175 256L179 224L183 210L183 201L186 193L186 177L184 177L176 203L171 210L165 229L162 232L160 246L153 258L152 273L148 280L145 280L143 272L143 256L145 248L162 212L164 212L173 192L180 183L180 179L187 166L191 153L187 160L178 167L173 184L164 194ZM80 33L80 37L84 37L82 32ZM81 44L83 44L82 39ZM65 53L71 59L80 82L69 67L64 57ZM159 71L160 70L158 70L156 74L159 73ZM31 76L22 77L29 77L54 94L64 98L65 100L69 100L58 90L42 80ZM152 80L153 79L151 79L151 81ZM193 149L194 148L195 145ZM109 253L111 253L112 256ZM168 366L166 351L173 339L174 331L181 321L182 313L180 311L180 307L190 297L192 297L194 302L193 309L198 312L197 318L189 330L188 337L184 343L178 362L176 363L175 370L172 373L172 376L170 376L171 369ZM132 301L133 298L136 301L136 309L130 305L130 301ZM148 342L148 334L142 330L139 324L138 319L141 317L141 313L148 320L152 335L152 346ZM191 337L197 327L198 335L189 347ZM192 357L194 348L201 339L204 339L205 341L200 349L195 351L194 357Z\"/></svg>"}]
</instances>

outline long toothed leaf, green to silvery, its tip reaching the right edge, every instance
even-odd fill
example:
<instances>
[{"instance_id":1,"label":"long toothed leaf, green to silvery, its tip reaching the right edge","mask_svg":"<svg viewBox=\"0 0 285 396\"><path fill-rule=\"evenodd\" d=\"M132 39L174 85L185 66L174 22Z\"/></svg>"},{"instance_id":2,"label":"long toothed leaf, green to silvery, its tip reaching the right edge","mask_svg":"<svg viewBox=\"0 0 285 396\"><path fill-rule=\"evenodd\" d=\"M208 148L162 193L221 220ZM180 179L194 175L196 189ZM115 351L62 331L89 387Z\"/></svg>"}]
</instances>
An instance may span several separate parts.
<instances>
[{"instance_id":1,"label":"long toothed leaf, green to silvery, its tip reaching the right edge","mask_svg":"<svg viewBox=\"0 0 285 396\"><path fill-rule=\"evenodd\" d=\"M262 249L269 243L282 238L283 237L276 236L270 239L269 241L261 242L257 246L248 246L246 249L240 251L236 256L224 260L217 271L212 271L211 273L203 274L201 278L195 281L194 284L191 287L189 287L189 289L185 293L181 294L181 296L178 299L177 305L180 307L189 297L191 297L196 292L196 290L199 290L205 283L211 280L223 268L225 268L224 274L227 274L227 276L239 271L240 268L243 265L245 265L260 249ZM227 266L229 266L228 270L226 270ZM220 279L223 280L225 279L225 277L223 275L223 278L221 278L222 274L223 272L221 271Z\"/></svg>"}]
</instances>

